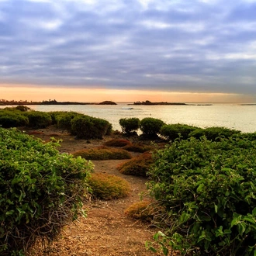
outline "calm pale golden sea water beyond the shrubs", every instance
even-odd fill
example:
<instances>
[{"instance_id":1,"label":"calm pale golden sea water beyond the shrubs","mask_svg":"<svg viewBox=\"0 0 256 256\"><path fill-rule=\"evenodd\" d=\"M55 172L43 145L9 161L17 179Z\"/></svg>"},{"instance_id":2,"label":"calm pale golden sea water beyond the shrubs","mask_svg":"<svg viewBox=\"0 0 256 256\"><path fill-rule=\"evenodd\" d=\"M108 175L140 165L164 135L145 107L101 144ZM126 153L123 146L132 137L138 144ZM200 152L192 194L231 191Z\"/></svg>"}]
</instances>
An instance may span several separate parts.
<instances>
[{"instance_id":1,"label":"calm pale golden sea water beyond the shrubs","mask_svg":"<svg viewBox=\"0 0 256 256\"><path fill-rule=\"evenodd\" d=\"M133 109L124 109L133 107ZM75 111L88 116L103 118L112 123L113 130L121 130L119 119L154 117L165 123L184 123L199 127L224 126L242 132L256 131L256 106L237 104L213 104L212 106L127 106L119 103L107 105L66 105L66 106L29 106L43 112Z\"/></svg>"}]
</instances>

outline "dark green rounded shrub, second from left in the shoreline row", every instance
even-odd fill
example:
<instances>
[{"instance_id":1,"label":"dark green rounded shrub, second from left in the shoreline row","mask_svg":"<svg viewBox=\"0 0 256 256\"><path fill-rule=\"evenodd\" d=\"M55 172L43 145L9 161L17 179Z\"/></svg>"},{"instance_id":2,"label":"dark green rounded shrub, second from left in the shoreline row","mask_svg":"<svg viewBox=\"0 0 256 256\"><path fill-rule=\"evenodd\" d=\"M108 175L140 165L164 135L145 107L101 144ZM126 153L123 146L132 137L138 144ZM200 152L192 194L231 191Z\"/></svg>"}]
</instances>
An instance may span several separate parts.
<instances>
[{"instance_id":1,"label":"dark green rounded shrub, second from left in the shoreline row","mask_svg":"<svg viewBox=\"0 0 256 256\"><path fill-rule=\"evenodd\" d=\"M50 126L52 120L50 114L47 112L31 111L25 112L25 115L29 119L29 127L33 128L46 128Z\"/></svg>"}]
</instances>

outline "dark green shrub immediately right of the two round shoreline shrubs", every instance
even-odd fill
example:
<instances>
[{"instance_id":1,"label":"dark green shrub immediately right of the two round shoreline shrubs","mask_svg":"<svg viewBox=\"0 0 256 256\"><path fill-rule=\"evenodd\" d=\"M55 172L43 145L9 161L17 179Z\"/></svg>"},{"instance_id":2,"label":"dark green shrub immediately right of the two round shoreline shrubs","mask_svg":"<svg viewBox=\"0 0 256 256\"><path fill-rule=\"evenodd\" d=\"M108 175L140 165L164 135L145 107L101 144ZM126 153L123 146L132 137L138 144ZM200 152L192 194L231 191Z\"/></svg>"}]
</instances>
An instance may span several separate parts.
<instances>
[{"instance_id":1,"label":"dark green shrub immediately right of the two round shoreline shrubs","mask_svg":"<svg viewBox=\"0 0 256 256\"><path fill-rule=\"evenodd\" d=\"M195 130L196 127L186 124L167 124L161 127L160 133L168 140L175 140L181 137L183 140L187 140L189 133Z\"/></svg>"}]
</instances>

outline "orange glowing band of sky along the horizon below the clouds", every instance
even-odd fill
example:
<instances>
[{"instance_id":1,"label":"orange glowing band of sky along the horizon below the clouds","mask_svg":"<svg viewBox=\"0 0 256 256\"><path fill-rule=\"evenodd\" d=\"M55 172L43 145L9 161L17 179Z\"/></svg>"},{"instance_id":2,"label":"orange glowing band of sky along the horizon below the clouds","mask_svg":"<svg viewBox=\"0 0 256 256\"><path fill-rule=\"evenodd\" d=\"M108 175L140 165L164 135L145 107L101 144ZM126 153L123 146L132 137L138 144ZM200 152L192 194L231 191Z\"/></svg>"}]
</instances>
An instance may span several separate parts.
<instances>
[{"instance_id":1,"label":"orange glowing band of sky along the horizon below the clouds","mask_svg":"<svg viewBox=\"0 0 256 256\"><path fill-rule=\"evenodd\" d=\"M34 86L0 86L0 99L43 101L56 99L57 102L227 102L254 103L255 95L199 92L163 92L149 90L127 90L106 88L47 88Z\"/></svg>"}]
</instances>

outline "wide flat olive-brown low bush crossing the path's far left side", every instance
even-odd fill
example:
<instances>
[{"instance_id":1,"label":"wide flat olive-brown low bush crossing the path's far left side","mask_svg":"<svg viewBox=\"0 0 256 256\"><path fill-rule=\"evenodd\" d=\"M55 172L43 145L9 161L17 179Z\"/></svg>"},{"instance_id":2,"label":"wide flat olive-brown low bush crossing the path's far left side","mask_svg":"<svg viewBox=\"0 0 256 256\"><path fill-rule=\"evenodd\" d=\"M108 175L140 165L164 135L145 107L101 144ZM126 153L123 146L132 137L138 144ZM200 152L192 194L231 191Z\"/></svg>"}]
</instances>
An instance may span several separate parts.
<instances>
[{"instance_id":1,"label":"wide flat olive-brown low bush crossing the path's far left side","mask_svg":"<svg viewBox=\"0 0 256 256\"><path fill-rule=\"evenodd\" d=\"M123 149L109 147L95 147L91 149L78 150L73 153L74 157L83 157L87 160L115 160L130 159L131 154Z\"/></svg>"}]
</instances>

